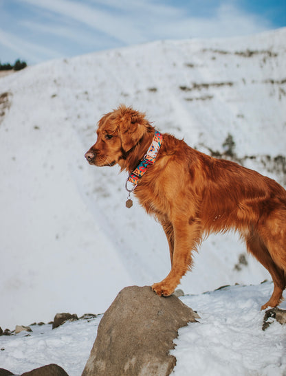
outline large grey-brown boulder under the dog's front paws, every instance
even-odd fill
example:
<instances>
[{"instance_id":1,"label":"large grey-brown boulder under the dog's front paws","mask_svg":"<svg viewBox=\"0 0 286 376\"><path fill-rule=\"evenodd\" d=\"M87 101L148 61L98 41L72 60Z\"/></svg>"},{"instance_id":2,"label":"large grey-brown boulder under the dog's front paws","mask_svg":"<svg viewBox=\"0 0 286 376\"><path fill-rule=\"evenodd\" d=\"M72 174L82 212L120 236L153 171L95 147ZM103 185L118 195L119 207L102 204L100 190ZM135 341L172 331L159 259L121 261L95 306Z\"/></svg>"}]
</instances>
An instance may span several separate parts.
<instances>
[{"instance_id":1,"label":"large grey-brown boulder under the dog's front paws","mask_svg":"<svg viewBox=\"0 0 286 376\"><path fill-rule=\"evenodd\" d=\"M169 375L177 330L196 318L176 296L159 297L148 286L122 289L100 321L82 376Z\"/></svg>"}]
</instances>

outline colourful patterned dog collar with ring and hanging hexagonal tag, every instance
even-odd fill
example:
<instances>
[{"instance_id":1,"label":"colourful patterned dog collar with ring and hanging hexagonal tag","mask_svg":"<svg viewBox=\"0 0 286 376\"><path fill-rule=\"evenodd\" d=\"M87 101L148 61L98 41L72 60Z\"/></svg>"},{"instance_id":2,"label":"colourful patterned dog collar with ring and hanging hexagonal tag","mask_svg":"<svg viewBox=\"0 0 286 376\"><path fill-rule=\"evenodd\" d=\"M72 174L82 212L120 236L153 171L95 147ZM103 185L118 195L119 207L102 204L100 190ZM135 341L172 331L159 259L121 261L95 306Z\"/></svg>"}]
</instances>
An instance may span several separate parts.
<instances>
[{"instance_id":1,"label":"colourful patterned dog collar with ring and hanging hexagonal tag","mask_svg":"<svg viewBox=\"0 0 286 376\"><path fill-rule=\"evenodd\" d=\"M152 164L155 163L157 153L159 151L160 146L162 145L162 140L163 140L162 134L159 133L159 131L155 131L152 144L148 148L147 153L144 155L143 159L141 159L140 163L135 168L135 170L133 170L132 173L130 173L130 175L129 175L127 181L126 181L126 184L125 184L125 188L129 192L129 195L128 195L128 198L127 198L127 201L126 201L126 207L127 208L131 208L131 206L133 204L130 194L131 194L131 192L133 192L133 190L135 190L135 188L138 184L138 180L144 175L144 173L146 173L148 166L151 166ZM133 184L132 189L129 189L127 187L127 184L129 182Z\"/></svg>"}]
</instances>

